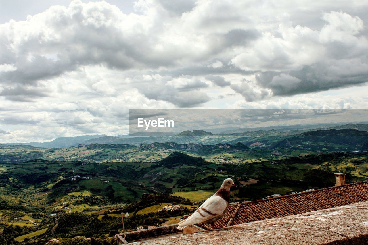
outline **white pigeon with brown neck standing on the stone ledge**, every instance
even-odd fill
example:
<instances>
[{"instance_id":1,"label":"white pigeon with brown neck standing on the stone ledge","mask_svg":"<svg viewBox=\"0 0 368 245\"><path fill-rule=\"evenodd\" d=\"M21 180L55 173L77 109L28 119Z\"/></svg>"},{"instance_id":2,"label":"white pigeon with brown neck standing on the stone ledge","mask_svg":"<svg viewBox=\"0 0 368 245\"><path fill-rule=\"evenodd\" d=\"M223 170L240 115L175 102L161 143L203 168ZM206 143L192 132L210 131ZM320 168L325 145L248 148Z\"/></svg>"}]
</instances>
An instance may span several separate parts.
<instances>
[{"instance_id":1,"label":"white pigeon with brown neck standing on the stone ledge","mask_svg":"<svg viewBox=\"0 0 368 245\"><path fill-rule=\"evenodd\" d=\"M220 219L227 210L230 201L230 187L236 187L234 181L230 178L224 180L220 189L210 198L208 198L195 212L187 219L180 221L178 230L183 230L191 224L205 223L211 224L213 229L217 227L215 222Z\"/></svg>"}]
</instances>

